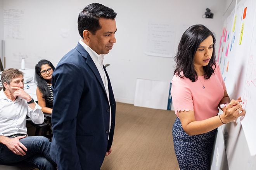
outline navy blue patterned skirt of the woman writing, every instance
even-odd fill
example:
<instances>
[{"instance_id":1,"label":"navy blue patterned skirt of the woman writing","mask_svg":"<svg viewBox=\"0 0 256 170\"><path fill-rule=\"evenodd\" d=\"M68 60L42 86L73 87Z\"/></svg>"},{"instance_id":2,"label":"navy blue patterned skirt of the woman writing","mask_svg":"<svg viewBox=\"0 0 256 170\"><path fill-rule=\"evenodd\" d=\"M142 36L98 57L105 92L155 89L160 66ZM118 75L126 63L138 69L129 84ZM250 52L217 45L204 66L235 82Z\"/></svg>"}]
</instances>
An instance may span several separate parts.
<instances>
[{"instance_id":1,"label":"navy blue patterned skirt of the woman writing","mask_svg":"<svg viewBox=\"0 0 256 170\"><path fill-rule=\"evenodd\" d=\"M177 117L173 124L173 145L180 170L209 170L217 129L189 136Z\"/></svg>"}]
</instances>

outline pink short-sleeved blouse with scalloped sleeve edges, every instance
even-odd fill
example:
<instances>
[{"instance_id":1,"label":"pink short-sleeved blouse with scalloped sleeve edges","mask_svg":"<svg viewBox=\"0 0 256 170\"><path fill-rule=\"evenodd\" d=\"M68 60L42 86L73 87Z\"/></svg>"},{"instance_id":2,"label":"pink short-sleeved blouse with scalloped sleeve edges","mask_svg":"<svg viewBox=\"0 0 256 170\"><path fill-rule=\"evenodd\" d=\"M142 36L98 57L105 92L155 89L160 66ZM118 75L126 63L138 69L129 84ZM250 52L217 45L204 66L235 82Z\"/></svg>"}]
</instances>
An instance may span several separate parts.
<instances>
[{"instance_id":1,"label":"pink short-sleeved blouse with scalloped sleeve edges","mask_svg":"<svg viewBox=\"0 0 256 170\"><path fill-rule=\"evenodd\" d=\"M226 90L218 63L208 80L198 76L197 81L192 82L189 78L174 75L171 83L171 96L177 116L179 111L194 110L195 120L201 121L218 114L218 104Z\"/></svg>"}]
</instances>

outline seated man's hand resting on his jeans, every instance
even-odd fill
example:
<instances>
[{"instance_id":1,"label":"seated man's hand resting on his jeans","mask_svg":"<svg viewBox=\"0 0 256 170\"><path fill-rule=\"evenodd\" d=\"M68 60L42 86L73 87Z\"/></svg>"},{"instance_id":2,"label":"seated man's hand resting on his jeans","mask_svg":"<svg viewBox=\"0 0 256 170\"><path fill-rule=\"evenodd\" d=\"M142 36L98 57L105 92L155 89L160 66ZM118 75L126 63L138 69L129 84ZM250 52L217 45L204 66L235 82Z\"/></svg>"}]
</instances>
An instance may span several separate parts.
<instances>
[{"instance_id":1,"label":"seated man's hand resting on his jeans","mask_svg":"<svg viewBox=\"0 0 256 170\"><path fill-rule=\"evenodd\" d=\"M17 136L16 138L8 138L5 140L5 143L3 143L3 144L6 145L7 148L9 148L9 150L11 150L16 155L24 156L24 155L26 155L26 153L24 151L28 151L28 149L19 141L19 139L22 139L25 137L26 137L26 135Z\"/></svg>"}]
</instances>

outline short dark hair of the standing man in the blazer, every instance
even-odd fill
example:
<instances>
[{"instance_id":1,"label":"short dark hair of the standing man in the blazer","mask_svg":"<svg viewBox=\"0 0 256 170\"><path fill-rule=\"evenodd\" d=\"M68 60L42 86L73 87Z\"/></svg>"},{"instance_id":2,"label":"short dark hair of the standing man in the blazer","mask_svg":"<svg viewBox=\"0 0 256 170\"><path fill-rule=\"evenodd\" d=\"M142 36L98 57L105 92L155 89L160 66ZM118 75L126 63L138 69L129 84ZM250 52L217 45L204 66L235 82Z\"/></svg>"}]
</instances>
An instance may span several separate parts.
<instances>
[{"instance_id":1,"label":"short dark hair of the standing man in the blazer","mask_svg":"<svg viewBox=\"0 0 256 170\"><path fill-rule=\"evenodd\" d=\"M99 18L115 19L116 12L100 3L87 5L78 15L78 32L83 38L83 31L88 30L95 34L101 28Z\"/></svg>"}]
</instances>

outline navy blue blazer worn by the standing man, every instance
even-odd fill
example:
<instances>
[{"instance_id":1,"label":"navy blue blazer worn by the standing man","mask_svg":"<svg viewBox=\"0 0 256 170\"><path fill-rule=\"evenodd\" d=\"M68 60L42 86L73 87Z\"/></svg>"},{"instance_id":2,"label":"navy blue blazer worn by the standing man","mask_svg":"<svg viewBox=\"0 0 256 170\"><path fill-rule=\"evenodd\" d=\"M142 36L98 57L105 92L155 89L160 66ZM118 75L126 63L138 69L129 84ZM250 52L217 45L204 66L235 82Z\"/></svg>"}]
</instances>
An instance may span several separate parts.
<instances>
[{"instance_id":1,"label":"navy blue blazer worn by the standing man","mask_svg":"<svg viewBox=\"0 0 256 170\"><path fill-rule=\"evenodd\" d=\"M105 73L107 71L104 67ZM112 145L116 101L109 76L109 102L99 71L78 42L52 74L54 106L50 150L58 170L99 170ZM109 136L109 139L108 139Z\"/></svg>"}]
</instances>

